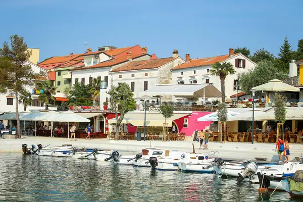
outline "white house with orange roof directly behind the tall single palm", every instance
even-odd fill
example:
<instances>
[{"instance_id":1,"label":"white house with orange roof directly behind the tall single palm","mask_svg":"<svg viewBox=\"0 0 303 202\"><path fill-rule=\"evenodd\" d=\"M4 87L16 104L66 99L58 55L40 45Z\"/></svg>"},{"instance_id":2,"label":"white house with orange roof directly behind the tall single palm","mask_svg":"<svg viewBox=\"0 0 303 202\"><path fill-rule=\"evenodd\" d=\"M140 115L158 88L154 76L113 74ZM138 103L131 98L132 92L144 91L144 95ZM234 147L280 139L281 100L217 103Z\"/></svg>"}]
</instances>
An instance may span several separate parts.
<instances>
[{"instance_id":1,"label":"white house with orange roof directly behind the tall single palm","mask_svg":"<svg viewBox=\"0 0 303 202\"><path fill-rule=\"evenodd\" d=\"M213 85L221 90L220 78L211 76L210 70L216 62L231 63L236 71L234 75L228 75L225 79L225 95L230 97L236 94L235 84L239 73L247 72L254 69L256 63L249 60L244 55L234 54L234 49L229 49L229 54L224 56L216 56L210 58L190 59L190 55L186 54L186 62L172 68L173 84L194 84L194 83L213 83ZM216 98L217 99L217 98ZM174 99L173 101L175 101ZM180 101L180 100L179 100ZM181 101L197 101L197 100L181 100ZM201 101L201 100L199 100Z\"/></svg>"}]
</instances>

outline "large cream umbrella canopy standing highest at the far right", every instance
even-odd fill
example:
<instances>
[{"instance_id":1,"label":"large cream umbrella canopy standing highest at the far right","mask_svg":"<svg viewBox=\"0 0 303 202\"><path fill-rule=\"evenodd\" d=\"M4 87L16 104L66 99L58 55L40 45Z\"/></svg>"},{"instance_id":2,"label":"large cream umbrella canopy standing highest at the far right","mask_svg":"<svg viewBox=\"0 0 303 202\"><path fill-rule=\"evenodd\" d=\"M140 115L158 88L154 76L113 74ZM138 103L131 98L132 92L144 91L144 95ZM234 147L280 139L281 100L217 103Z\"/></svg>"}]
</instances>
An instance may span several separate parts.
<instances>
[{"instance_id":1,"label":"large cream umbrella canopy standing highest at the far right","mask_svg":"<svg viewBox=\"0 0 303 202\"><path fill-rule=\"evenodd\" d=\"M271 91L271 92L285 92L285 91L299 92L300 91L300 88L294 87L292 85L288 85L287 83L283 83L283 81L278 79L273 79L268 83L253 87L252 89Z\"/></svg>"}]
</instances>

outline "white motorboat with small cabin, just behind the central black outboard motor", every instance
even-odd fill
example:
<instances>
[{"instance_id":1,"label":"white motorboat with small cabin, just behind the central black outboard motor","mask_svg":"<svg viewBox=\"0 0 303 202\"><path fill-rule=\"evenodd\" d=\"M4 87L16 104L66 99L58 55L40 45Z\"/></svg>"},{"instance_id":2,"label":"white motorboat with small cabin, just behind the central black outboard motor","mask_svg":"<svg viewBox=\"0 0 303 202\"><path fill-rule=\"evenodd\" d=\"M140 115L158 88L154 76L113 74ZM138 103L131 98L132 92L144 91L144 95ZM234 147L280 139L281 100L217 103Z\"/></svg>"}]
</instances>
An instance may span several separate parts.
<instances>
[{"instance_id":1,"label":"white motorboat with small cabin, just behind the central black outboard motor","mask_svg":"<svg viewBox=\"0 0 303 202\"><path fill-rule=\"evenodd\" d=\"M135 158L133 160L133 165L135 167L150 167L149 158L156 157L161 158L165 156L165 150L158 148L144 148L141 150L140 158Z\"/></svg>"}]
</instances>

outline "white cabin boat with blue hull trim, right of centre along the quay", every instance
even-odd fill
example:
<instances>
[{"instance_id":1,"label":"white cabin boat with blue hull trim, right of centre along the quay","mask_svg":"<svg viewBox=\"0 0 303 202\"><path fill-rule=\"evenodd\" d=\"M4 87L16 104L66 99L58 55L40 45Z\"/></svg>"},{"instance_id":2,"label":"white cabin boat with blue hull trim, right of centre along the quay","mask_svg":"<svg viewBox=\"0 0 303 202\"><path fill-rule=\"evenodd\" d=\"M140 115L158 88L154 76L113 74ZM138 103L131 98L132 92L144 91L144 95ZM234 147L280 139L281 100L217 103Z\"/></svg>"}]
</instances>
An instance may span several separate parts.
<instances>
[{"instance_id":1,"label":"white cabin boat with blue hull trim, right of centre along the quay","mask_svg":"<svg viewBox=\"0 0 303 202\"><path fill-rule=\"evenodd\" d=\"M205 154L195 153L193 144L192 148L192 153L184 153L180 157L178 166L181 171L214 173L215 158L211 158L210 156L219 154L218 151L211 151L208 153L208 156L206 156Z\"/></svg>"}]
</instances>

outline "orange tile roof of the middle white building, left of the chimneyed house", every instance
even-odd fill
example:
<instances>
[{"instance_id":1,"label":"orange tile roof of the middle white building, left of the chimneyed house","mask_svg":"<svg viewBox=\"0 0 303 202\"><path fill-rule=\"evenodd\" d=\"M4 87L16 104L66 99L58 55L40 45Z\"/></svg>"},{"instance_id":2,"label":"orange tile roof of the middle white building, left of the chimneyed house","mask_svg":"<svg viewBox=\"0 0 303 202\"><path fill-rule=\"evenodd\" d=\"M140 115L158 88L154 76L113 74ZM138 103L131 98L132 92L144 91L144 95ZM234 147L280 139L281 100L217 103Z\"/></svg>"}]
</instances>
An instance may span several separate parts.
<instances>
[{"instance_id":1,"label":"orange tile roof of the middle white building, left of the chimneyed house","mask_svg":"<svg viewBox=\"0 0 303 202\"><path fill-rule=\"evenodd\" d=\"M114 69L112 72L130 71L130 70L143 70L143 69L155 69L159 68L175 58L161 58L154 60L142 60L142 61L132 61L122 67Z\"/></svg>"}]
</instances>

